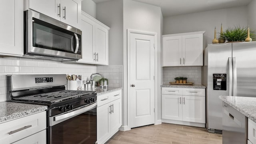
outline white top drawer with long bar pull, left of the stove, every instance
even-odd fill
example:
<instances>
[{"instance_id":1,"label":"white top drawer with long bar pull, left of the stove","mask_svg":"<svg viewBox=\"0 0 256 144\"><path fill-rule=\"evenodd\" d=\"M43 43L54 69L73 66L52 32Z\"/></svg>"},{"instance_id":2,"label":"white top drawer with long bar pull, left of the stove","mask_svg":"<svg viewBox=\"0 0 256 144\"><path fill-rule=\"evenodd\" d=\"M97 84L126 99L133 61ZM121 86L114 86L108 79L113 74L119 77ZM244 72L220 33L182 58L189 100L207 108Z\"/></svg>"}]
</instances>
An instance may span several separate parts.
<instances>
[{"instance_id":1,"label":"white top drawer with long bar pull, left of the stove","mask_svg":"<svg viewBox=\"0 0 256 144\"><path fill-rule=\"evenodd\" d=\"M46 129L46 111L0 123L0 142L8 144Z\"/></svg>"}]
</instances>

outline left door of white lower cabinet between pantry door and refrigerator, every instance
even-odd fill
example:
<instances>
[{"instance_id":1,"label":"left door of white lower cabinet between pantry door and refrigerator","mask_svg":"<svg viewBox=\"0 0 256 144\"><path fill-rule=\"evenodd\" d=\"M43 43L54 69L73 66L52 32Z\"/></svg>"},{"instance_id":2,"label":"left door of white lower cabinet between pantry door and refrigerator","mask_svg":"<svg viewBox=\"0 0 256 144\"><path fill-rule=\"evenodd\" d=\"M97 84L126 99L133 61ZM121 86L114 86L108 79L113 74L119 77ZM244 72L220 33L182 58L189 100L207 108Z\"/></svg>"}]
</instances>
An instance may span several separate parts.
<instances>
[{"instance_id":1,"label":"left door of white lower cabinet between pantry door and refrigerator","mask_svg":"<svg viewBox=\"0 0 256 144\"><path fill-rule=\"evenodd\" d=\"M182 120L182 96L162 94L162 118Z\"/></svg>"}]
</instances>

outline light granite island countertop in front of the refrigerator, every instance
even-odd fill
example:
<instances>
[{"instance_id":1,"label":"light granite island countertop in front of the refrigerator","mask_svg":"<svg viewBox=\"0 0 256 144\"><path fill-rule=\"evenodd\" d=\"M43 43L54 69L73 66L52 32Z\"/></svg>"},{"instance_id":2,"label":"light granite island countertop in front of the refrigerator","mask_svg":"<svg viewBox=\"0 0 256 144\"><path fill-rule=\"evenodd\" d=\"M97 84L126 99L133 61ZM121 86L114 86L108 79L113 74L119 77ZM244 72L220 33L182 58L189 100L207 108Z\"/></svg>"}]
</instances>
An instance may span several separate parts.
<instances>
[{"instance_id":1,"label":"light granite island countertop in front of the refrigerator","mask_svg":"<svg viewBox=\"0 0 256 144\"><path fill-rule=\"evenodd\" d=\"M256 122L256 97L219 96L219 98Z\"/></svg>"}]
</instances>

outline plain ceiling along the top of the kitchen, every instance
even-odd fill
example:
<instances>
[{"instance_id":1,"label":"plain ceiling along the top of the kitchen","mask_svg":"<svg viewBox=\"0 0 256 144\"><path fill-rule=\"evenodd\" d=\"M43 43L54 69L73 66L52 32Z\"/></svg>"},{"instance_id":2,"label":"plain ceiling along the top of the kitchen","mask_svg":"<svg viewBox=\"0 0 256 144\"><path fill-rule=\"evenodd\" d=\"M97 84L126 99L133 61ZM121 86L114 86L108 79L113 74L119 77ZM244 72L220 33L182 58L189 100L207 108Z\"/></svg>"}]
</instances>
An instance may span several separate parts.
<instances>
[{"instance_id":1,"label":"plain ceiling along the top of the kitchen","mask_svg":"<svg viewBox=\"0 0 256 144\"><path fill-rule=\"evenodd\" d=\"M110 0L93 0L96 3ZM163 16L174 16L235 6L246 6L252 0L134 0L161 7Z\"/></svg>"}]
</instances>

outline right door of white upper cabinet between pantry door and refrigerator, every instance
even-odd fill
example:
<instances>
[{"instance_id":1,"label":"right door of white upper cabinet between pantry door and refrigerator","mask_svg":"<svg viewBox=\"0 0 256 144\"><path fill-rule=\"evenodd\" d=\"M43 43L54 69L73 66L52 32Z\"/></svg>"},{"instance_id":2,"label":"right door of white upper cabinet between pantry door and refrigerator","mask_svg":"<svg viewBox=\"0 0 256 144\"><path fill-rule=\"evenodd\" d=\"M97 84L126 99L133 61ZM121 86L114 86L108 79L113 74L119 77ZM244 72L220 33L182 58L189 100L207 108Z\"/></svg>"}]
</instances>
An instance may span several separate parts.
<instances>
[{"instance_id":1,"label":"right door of white upper cabinet between pantry door and refrigerator","mask_svg":"<svg viewBox=\"0 0 256 144\"><path fill-rule=\"evenodd\" d=\"M203 34L182 36L183 66L203 66Z\"/></svg>"}]
</instances>

